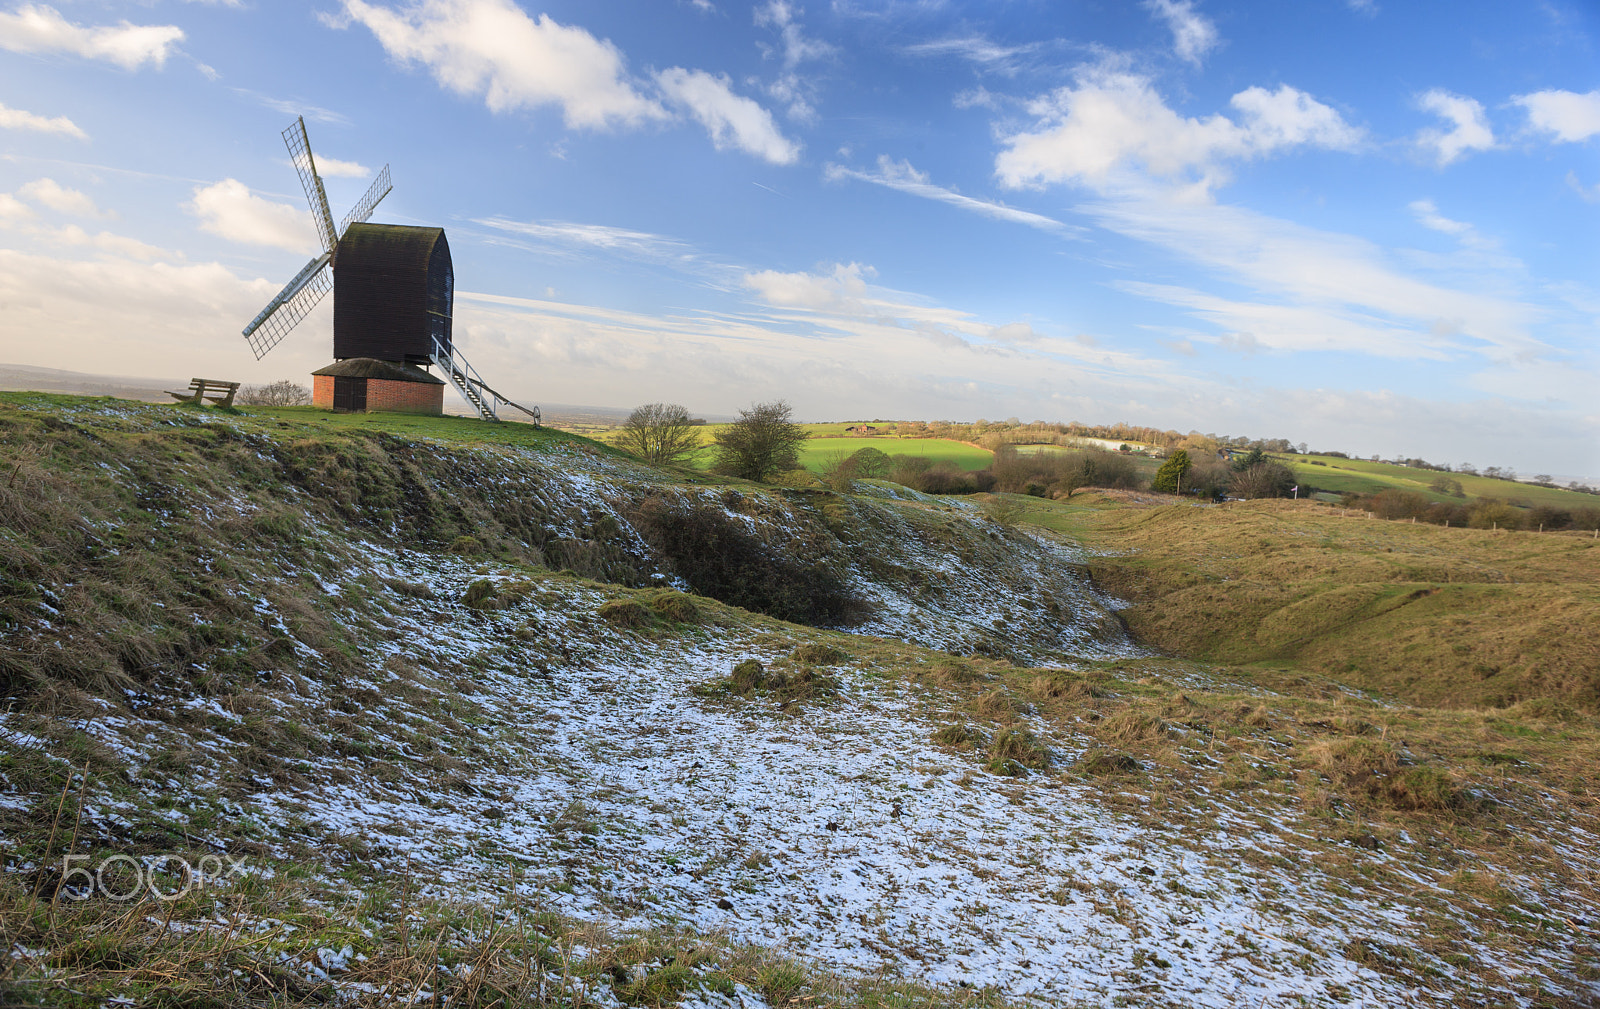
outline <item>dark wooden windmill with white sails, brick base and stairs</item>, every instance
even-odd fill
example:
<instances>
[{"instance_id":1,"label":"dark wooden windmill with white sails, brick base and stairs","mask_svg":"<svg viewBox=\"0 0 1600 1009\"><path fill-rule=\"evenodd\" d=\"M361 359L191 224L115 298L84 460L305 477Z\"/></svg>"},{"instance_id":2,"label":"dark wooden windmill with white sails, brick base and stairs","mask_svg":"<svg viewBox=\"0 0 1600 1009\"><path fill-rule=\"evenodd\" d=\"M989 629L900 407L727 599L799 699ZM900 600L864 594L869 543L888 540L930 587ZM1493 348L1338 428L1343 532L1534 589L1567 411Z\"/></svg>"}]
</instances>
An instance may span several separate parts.
<instances>
[{"instance_id":1,"label":"dark wooden windmill with white sails, brick base and stairs","mask_svg":"<svg viewBox=\"0 0 1600 1009\"><path fill-rule=\"evenodd\" d=\"M256 360L333 291L334 365L314 374L318 405L440 413L443 390L427 387L445 382L422 371L434 366L478 417L498 421L498 408L506 405L538 424L538 406L512 403L490 389L451 341L456 285L445 229L366 222L394 189L389 166L334 227L304 118L283 131L283 142L310 201L322 253L245 326ZM373 387L374 381L379 385Z\"/></svg>"}]
</instances>

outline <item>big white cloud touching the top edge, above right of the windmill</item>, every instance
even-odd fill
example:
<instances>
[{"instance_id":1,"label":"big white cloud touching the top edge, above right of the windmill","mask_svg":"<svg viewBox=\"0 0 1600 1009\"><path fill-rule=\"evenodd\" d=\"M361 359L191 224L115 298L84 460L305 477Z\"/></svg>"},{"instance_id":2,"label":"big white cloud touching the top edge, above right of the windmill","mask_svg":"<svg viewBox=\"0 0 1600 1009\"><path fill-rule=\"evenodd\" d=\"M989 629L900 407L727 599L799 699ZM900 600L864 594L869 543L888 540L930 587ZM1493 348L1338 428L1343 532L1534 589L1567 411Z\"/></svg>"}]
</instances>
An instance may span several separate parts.
<instances>
[{"instance_id":1,"label":"big white cloud touching the top edge, above right of the windmill","mask_svg":"<svg viewBox=\"0 0 1600 1009\"><path fill-rule=\"evenodd\" d=\"M629 82L621 50L510 0L418 0L398 11L344 0L344 16L442 86L483 94L491 112L560 106L568 126L595 130L666 118Z\"/></svg>"}]
</instances>

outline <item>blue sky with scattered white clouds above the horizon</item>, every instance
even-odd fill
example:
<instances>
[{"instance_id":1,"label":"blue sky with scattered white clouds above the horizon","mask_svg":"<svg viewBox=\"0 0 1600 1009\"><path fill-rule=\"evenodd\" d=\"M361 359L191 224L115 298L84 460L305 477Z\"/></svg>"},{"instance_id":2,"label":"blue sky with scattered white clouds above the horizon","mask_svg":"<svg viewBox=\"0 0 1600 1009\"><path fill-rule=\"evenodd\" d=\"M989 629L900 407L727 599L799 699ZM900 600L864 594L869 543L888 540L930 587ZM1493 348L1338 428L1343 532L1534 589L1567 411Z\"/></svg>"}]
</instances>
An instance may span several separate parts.
<instances>
[{"instance_id":1,"label":"blue sky with scattered white clouds above the horizon","mask_svg":"<svg viewBox=\"0 0 1600 1009\"><path fill-rule=\"evenodd\" d=\"M544 403L1600 475L1594 3L0 0L0 360L270 381L334 214Z\"/></svg>"}]
</instances>

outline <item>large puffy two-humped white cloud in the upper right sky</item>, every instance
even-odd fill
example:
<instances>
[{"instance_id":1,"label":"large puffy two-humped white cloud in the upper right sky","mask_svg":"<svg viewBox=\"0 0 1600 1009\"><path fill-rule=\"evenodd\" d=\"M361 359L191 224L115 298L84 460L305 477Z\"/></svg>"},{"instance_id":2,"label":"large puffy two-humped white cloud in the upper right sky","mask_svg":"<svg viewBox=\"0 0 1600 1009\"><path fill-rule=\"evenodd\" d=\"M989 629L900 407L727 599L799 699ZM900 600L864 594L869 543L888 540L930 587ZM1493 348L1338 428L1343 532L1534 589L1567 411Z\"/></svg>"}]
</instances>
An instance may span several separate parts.
<instances>
[{"instance_id":1,"label":"large puffy two-humped white cloud in the upper right sky","mask_svg":"<svg viewBox=\"0 0 1600 1009\"><path fill-rule=\"evenodd\" d=\"M1130 168L1205 192L1227 177L1224 162L1288 147L1349 150L1362 133L1304 91L1248 88L1232 99L1240 122L1190 118L1166 107L1150 80L1083 67L1078 80L1029 104L1032 130L1005 138L995 174L1005 185L1106 185Z\"/></svg>"}]
</instances>

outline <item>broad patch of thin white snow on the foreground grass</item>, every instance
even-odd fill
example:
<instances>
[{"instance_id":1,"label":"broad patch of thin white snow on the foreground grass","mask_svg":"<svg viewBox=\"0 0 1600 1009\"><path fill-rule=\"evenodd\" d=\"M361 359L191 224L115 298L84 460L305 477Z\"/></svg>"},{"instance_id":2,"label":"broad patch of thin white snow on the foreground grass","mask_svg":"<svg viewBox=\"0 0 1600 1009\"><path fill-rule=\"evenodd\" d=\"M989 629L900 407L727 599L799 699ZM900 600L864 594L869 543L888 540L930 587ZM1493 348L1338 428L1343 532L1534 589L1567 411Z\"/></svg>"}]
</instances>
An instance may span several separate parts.
<instances>
[{"instance_id":1,"label":"broad patch of thin white snow on the foreground grass","mask_svg":"<svg viewBox=\"0 0 1600 1009\"><path fill-rule=\"evenodd\" d=\"M451 564L387 568L459 593L477 572ZM1413 910L1285 860L1296 835L1264 830L1259 812L1218 803L1208 832L1162 830L1056 774L987 774L928 742L936 697L870 665L843 670L829 707L706 700L691 688L792 643L746 628L608 632L592 616L600 592L554 585L558 603L493 614L450 604L445 622L397 603L400 633L386 649L474 670L448 708L470 726L453 750L467 787L429 784L424 758L390 731L442 718L442 697L402 700L390 673L368 684L386 702L363 724L395 753L398 779L323 756L304 784L256 793L245 814L358 836L366 857L410 863L437 895L490 899L515 860L530 895L576 916L722 929L834 967L1014 998L1429 1003L1346 955L1357 934L1405 948L1421 927ZM530 619L550 638L587 641L582 657L534 675L507 651ZM131 720L109 724L146 737ZM1082 748L1050 744L1058 763Z\"/></svg>"}]
</instances>

